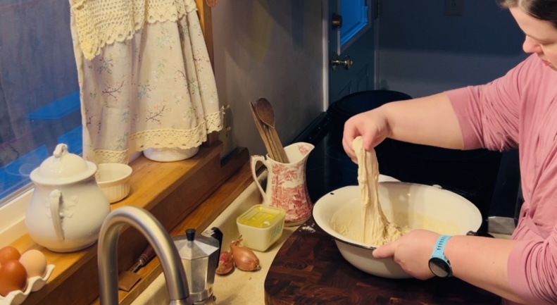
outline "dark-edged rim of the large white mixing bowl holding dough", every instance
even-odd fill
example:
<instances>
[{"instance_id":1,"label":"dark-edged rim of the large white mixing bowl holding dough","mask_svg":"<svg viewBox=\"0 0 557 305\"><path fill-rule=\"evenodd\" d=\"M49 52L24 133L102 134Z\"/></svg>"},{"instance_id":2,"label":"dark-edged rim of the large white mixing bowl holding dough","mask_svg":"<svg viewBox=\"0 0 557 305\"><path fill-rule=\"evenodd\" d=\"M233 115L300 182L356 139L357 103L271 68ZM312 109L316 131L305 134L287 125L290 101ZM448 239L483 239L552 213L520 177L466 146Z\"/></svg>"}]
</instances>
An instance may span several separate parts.
<instances>
[{"instance_id":1,"label":"dark-edged rim of the large white mixing bowl holding dough","mask_svg":"<svg viewBox=\"0 0 557 305\"><path fill-rule=\"evenodd\" d=\"M465 197L463 197L461 194L457 194L455 192L451 192L449 189L444 189L442 187L438 187L437 185L424 185L424 184L420 184L420 183L415 183L415 182L402 182L402 181L393 181L393 180L387 180L387 181L380 181L379 183L384 184L384 185L389 185L389 184L393 184L393 185L415 185L417 187L422 187L422 188L427 188L427 189L436 189L436 190L441 190L441 191L445 191L445 192L449 192L449 194L451 194L451 196L454 196L456 198L461 199L461 201L466 202L467 204L469 204L471 207L475 208L475 210L477 211L477 213L480 216L480 223L478 225L478 227L475 229L475 231L468 231L466 233L466 235L476 235L477 234L477 230L480 230L481 226L482 226L482 214L480 213L479 208L477 208L477 206L475 206L475 204L472 203L472 201L466 199ZM323 197L326 197L334 192L339 192L339 191L343 191L346 189L353 189L355 187L359 187L358 185L347 185L344 187L339 187L338 189L333 189L330 192L327 192L326 194L324 194L322 197L320 197L320 199L322 199ZM312 216L313 216L313 220L315 221L315 224L321 229L323 230L323 232L325 232L327 235L329 235L330 237L332 237L333 239L342 242L344 244L349 244L351 246L355 246L358 248L362 248L362 249L370 249L370 250L375 250L380 246L373 246L373 245L365 245L362 244L361 242L357 242L357 241L353 241L353 239L349 239L348 237L344 237L344 239L342 239L341 237L338 237L334 234L331 234L331 232L328 232L329 230L325 230L325 228L323 228L323 225L325 225L324 223L320 223L320 217L315 217L315 206L318 206L320 199L318 199L317 201L315 201L315 204L313 205L312 208ZM338 235L340 235L340 233L337 233L336 231L334 232Z\"/></svg>"}]
</instances>

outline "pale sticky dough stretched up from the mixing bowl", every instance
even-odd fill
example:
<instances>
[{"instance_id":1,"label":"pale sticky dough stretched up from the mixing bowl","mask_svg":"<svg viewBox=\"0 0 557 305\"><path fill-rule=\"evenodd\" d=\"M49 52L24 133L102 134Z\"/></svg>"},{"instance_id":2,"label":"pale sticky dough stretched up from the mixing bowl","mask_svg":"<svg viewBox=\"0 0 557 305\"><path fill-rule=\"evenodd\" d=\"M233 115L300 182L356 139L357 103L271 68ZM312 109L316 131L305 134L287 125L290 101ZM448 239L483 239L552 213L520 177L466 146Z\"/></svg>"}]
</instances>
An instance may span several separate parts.
<instances>
[{"instance_id":1,"label":"pale sticky dough stretched up from the mixing bowl","mask_svg":"<svg viewBox=\"0 0 557 305\"><path fill-rule=\"evenodd\" d=\"M362 137L358 136L352 142L352 147L358 158L358 186L363 217L363 242L374 246L381 246L392 242L404 235L408 230L402 229L394 223L389 223L384 216L379 202L379 163L375 149L365 151Z\"/></svg>"}]
</instances>

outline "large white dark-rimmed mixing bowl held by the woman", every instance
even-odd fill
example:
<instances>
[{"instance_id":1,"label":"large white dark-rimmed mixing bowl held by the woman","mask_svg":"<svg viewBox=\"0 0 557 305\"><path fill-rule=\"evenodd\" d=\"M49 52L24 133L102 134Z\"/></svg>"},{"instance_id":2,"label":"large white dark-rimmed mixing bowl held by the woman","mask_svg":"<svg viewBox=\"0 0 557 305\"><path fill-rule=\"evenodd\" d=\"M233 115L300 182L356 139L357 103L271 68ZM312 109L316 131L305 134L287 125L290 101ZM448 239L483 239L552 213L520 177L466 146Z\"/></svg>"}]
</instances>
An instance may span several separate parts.
<instances>
[{"instance_id":1,"label":"large white dark-rimmed mixing bowl held by the woman","mask_svg":"<svg viewBox=\"0 0 557 305\"><path fill-rule=\"evenodd\" d=\"M427 229L444 235L466 235L476 232L482 224L482 215L472 202L439 187L380 182L379 200L390 222L408 226L411 230ZM356 268L383 278L410 278L391 258L374 259L371 253L377 245L365 244L334 230L332 219L337 224L348 225L349 230L363 230L360 202L357 185L336 189L315 202L315 223L334 237L344 259ZM350 235L350 232L345 235Z\"/></svg>"}]
</instances>

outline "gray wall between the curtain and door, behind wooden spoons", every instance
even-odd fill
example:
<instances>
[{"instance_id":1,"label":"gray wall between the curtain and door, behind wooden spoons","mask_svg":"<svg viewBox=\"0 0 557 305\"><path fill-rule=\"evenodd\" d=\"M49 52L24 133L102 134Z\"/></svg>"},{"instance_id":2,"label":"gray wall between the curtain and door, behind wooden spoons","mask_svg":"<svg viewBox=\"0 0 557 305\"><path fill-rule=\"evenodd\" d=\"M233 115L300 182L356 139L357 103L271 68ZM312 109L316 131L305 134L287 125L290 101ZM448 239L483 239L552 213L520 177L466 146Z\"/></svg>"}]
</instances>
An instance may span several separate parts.
<instances>
[{"instance_id":1,"label":"gray wall between the curtain and door, behind wooden spoons","mask_svg":"<svg viewBox=\"0 0 557 305\"><path fill-rule=\"evenodd\" d=\"M215 77L221 104L230 105L221 132L225 151L265 154L249 102L267 98L283 144L322 112L321 0L219 1L213 8Z\"/></svg>"}]
</instances>

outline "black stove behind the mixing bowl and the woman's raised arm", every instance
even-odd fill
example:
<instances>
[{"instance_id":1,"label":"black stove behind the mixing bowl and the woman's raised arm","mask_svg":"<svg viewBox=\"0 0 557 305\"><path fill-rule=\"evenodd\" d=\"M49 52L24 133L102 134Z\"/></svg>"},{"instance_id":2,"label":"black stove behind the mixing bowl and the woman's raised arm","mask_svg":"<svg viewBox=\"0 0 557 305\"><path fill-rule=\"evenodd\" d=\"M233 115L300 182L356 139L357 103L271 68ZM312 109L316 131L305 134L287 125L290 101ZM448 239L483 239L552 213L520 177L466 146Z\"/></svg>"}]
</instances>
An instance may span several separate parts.
<instances>
[{"instance_id":1,"label":"black stove behind the mixing bowl and the woman's raised arm","mask_svg":"<svg viewBox=\"0 0 557 305\"><path fill-rule=\"evenodd\" d=\"M389 90L349 94L331 104L294 139L293 142L315 145L306 167L308 191L313 202L339 187L358 185L358 166L342 148L344 122L357 113L402 99L411 97ZM487 233L487 218L501 159L499 152L441 149L393 139L386 139L375 151L383 175L404 182L439 185L470 200L484 218L478 233Z\"/></svg>"}]
</instances>

